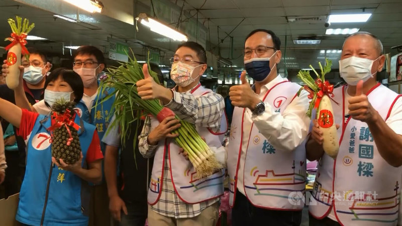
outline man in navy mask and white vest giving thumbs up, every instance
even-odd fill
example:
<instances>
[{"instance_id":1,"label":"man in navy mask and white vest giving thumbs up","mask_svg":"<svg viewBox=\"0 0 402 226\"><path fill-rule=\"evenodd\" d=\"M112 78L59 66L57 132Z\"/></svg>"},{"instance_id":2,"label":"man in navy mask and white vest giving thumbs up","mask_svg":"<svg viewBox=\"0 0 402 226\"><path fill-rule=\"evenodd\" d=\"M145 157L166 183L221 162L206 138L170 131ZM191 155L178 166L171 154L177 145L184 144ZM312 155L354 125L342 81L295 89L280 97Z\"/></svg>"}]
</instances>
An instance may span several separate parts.
<instances>
[{"instance_id":1,"label":"man in navy mask and white vest giving thumbs up","mask_svg":"<svg viewBox=\"0 0 402 226\"><path fill-rule=\"evenodd\" d=\"M228 171L233 225L299 225L305 190L309 100L300 86L277 74L280 40L251 32L244 45L246 71L230 88L235 105Z\"/></svg>"}]
</instances>

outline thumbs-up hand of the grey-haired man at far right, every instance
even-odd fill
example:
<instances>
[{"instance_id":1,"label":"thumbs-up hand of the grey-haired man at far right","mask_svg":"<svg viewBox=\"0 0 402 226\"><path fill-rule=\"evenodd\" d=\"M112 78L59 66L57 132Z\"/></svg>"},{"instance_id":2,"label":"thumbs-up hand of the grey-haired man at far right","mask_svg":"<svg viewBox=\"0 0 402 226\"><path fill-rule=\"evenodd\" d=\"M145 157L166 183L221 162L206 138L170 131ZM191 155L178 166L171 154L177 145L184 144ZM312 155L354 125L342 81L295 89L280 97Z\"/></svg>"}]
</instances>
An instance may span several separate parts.
<instances>
[{"instance_id":1,"label":"thumbs-up hand of the grey-haired man at far right","mask_svg":"<svg viewBox=\"0 0 402 226\"><path fill-rule=\"evenodd\" d=\"M356 93L349 98L349 115L354 120L359 120L367 124L373 123L378 119L378 112L371 106L368 98L363 94L363 80L356 85Z\"/></svg>"}]
</instances>

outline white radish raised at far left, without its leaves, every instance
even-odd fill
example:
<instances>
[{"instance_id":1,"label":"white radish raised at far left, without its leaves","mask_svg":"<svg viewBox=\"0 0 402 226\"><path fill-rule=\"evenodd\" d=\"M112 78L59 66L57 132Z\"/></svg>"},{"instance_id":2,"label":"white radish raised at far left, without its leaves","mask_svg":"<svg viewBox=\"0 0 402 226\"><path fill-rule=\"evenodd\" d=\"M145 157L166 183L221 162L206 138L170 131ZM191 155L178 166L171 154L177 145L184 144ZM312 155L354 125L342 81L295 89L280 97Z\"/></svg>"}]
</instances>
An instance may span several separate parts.
<instances>
[{"instance_id":1,"label":"white radish raised at far left, without its leaves","mask_svg":"<svg viewBox=\"0 0 402 226\"><path fill-rule=\"evenodd\" d=\"M18 87L20 82L20 68L21 65L21 44L16 43L10 48L7 54L7 64L9 65L9 74L6 77L7 86L10 89Z\"/></svg>"}]
</instances>

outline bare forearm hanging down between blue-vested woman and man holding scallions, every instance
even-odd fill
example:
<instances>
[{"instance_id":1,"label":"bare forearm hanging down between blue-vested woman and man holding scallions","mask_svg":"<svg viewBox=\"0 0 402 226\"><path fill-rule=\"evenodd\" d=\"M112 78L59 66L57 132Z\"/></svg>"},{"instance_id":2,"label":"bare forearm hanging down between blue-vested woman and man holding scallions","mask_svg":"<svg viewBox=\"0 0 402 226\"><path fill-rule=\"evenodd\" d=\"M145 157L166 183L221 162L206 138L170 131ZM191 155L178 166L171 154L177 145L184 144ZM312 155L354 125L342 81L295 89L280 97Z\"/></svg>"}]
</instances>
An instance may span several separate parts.
<instances>
[{"instance_id":1,"label":"bare forearm hanging down between blue-vested woman and man holding scallions","mask_svg":"<svg viewBox=\"0 0 402 226\"><path fill-rule=\"evenodd\" d=\"M105 150L105 178L108 186L108 195L118 195L117 189L117 158L119 148L107 145Z\"/></svg>"}]
</instances>

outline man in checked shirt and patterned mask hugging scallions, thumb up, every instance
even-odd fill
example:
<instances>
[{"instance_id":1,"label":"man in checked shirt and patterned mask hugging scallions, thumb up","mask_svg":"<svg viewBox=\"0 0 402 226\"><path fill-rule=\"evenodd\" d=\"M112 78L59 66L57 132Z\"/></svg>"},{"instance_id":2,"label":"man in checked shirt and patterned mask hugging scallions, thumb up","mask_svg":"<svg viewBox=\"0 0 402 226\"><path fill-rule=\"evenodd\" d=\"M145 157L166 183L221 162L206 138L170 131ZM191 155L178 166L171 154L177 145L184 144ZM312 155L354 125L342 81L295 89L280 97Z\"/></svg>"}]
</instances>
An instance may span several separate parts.
<instances>
[{"instance_id":1,"label":"man in checked shirt and patterned mask hugging scallions, thumb up","mask_svg":"<svg viewBox=\"0 0 402 226\"><path fill-rule=\"evenodd\" d=\"M205 49L195 42L184 42L171 63L170 75L177 84L175 88L157 84L145 65L145 79L137 82L138 94L143 99L159 99L181 120L194 124L218 161L226 165L220 136L227 129L224 99L199 83L207 69ZM166 117L161 122L147 117L139 136L141 154L145 158L155 156L148 190L149 225L216 225L219 197L224 191L224 170L198 179L191 163L180 154L172 139L177 136L172 131L179 126L174 117Z\"/></svg>"}]
</instances>

